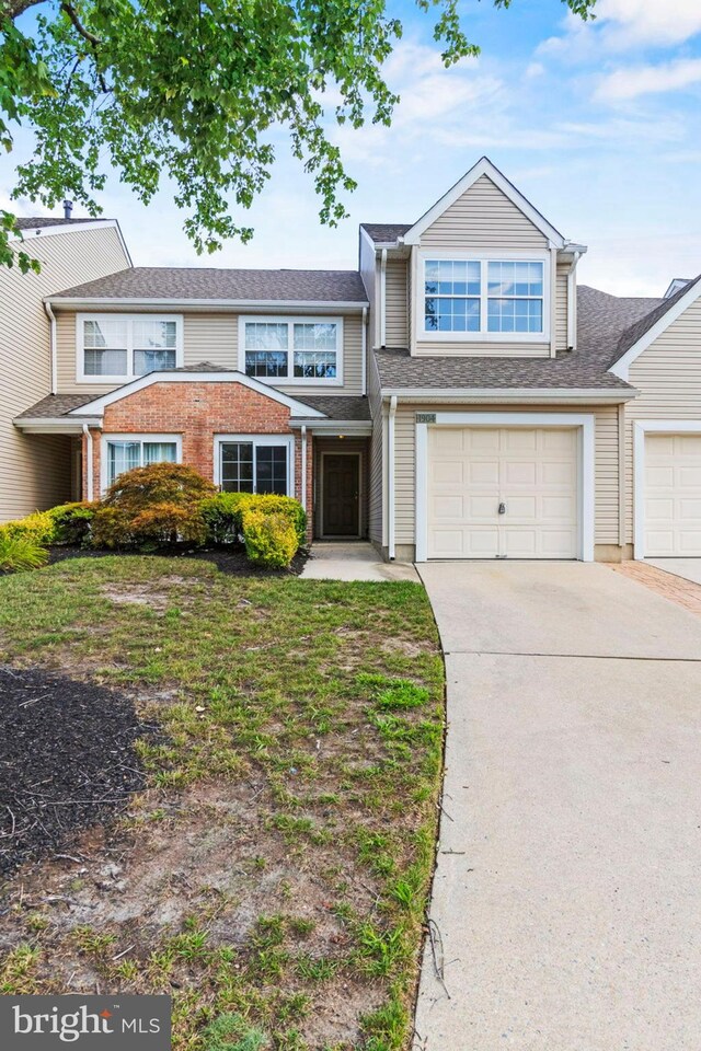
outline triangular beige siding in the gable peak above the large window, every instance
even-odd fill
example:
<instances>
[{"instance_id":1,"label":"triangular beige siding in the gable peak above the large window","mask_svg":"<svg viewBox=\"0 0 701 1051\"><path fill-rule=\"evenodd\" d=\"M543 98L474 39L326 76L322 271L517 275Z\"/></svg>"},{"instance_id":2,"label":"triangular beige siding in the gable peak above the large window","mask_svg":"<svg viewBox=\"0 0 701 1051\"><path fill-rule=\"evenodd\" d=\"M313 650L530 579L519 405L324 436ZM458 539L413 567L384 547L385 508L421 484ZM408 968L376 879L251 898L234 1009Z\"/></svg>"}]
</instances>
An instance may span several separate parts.
<instances>
[{"instance_id":1,"label":"triangular beige siding in the gable peak above the large window","mask_svg":"<svg viewBox=\"0 0 701 1051\"><path fill-rule=\"evenodd\" d=\"M421 238L423 249L547 249L548 240L487 175L478 178Z\"/></svg>"}]
</instances>

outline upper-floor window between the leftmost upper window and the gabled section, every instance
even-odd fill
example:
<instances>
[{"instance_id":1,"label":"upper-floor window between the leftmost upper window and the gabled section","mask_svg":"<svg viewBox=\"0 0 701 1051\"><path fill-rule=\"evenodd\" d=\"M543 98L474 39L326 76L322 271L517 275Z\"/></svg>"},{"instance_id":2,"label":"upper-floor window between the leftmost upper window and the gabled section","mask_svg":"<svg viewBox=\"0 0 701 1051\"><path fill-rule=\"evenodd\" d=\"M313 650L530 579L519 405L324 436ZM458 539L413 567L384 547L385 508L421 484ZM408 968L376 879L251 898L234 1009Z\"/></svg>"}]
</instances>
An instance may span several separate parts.
<instances>
[{"instance_id":1,"label":"upper-floor window between the leftmost upper window and the gabled section","mask_svg":"<svg viewBox=\"0 0 701 1051\"><path fill-rule=\"evenodd\" d=\"M241 319L246 376L284 383L340 383L340 319Z\"/></svg>"}]
</instances>

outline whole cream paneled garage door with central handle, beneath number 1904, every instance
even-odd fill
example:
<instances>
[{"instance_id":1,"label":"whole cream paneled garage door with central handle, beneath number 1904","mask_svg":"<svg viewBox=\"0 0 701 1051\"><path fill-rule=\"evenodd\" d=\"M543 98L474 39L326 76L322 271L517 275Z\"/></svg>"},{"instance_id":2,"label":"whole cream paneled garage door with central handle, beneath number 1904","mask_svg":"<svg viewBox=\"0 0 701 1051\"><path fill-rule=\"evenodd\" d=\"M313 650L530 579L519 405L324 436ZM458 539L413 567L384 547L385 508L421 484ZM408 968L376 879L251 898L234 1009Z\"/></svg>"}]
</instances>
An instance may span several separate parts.
<instances>
[{"instance_id":1,"label":"whole cream paneled garage door with central handle, beneath number 1904","mask_svg":"<svg viewBox=\"0 0 701 1051\"><path fill-rule=\"evenodd\" d=\"M576 558L577 448L574 428L429 428L428 557Z\"/></svg>"}]
</instances>

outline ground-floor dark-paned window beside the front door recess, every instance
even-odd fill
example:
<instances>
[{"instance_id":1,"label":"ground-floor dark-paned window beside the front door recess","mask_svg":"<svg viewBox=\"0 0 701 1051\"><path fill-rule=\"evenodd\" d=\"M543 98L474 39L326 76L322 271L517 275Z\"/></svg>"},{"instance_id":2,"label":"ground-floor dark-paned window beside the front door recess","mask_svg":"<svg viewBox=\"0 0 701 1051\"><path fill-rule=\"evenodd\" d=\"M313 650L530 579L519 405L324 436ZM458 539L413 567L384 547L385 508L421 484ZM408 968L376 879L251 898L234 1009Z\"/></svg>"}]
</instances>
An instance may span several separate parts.
<instances>
[{"instance_id":1,"label":"ground-floor dark-paned window beside the front door recess","mask_svg":"<svg viewBox=\"0 0 701 1051\"><path fill-rule=\"evenodd\" d=\"M218 476L226 493L291 496L292 439L284 436L218 438Z\"/></svg>"}]
</instances>

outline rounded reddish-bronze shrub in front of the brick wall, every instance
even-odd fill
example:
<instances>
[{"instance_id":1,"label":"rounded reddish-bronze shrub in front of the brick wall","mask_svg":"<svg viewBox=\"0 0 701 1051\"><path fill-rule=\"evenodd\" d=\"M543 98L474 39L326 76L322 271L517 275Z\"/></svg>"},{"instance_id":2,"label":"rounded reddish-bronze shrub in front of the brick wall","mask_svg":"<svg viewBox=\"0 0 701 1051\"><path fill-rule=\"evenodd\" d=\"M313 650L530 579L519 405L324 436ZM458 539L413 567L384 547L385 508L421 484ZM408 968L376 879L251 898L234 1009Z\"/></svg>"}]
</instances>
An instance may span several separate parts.
<instances>
[{"instance_id":1,"label":"rounded reddish-bronze shrub in front of the brick wall","mask_svg":"<svg viewBox=\"0 0 701 1051\"><path fill-rule=\"evenodd\" d=\"M154 504L198 504L216 492L211 482L184 463L151 463L120 474L102 503L134 516Z\"/></svg>"}]
</instances>

